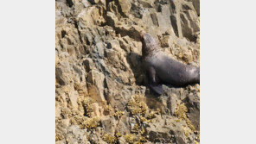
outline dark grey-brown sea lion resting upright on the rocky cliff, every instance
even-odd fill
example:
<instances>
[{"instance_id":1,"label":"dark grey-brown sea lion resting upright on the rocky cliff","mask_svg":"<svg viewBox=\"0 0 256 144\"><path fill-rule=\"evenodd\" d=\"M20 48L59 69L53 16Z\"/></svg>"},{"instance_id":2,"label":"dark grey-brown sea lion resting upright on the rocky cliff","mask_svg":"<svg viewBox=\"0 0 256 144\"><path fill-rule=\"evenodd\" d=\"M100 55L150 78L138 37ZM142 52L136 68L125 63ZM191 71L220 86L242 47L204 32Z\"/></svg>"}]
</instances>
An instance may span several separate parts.
<instances>
[{"instance_id":1,"label":"dark grey-brown sea lion resting upright on the rocky cliff","mask_svg":"<svg viewBox=\"0 0 256 144\"><path fill-rule=\"evenodd\" d=\"M162 84L184 86L200 83L200 67L185 65L161 51L150 34L140 33L142 62L149 79L150 89L163 94Z\"/></svg>"}]
</instances>

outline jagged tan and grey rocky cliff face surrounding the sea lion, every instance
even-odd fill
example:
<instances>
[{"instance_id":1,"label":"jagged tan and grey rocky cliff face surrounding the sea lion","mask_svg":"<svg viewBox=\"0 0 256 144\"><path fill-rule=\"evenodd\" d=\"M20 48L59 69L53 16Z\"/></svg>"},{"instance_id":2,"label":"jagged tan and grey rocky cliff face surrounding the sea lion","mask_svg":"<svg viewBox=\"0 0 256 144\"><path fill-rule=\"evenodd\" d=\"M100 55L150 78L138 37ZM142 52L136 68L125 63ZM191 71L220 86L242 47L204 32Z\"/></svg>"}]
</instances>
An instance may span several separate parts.
<instances>
[{"instance_id":1,"label":"jagged tan and grey rocky cliff face surrounding the sea lion","mask_svg":"<svg viewBox=\"0 0 256 144\"><path fill-rule=\"evenodd\" d=\"M55 141L199 143L200 85L163 85L141 69L139 32L199 66L199 0L56 0Z\"/></svg>"}]
</instances>

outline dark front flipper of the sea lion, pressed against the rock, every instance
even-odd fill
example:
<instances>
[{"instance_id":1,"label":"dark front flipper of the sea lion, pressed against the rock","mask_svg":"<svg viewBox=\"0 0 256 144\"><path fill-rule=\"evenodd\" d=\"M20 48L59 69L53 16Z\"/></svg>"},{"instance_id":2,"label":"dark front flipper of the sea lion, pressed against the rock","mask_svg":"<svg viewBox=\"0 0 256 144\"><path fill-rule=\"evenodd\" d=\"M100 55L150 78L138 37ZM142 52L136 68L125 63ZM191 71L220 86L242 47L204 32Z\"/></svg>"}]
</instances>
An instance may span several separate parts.
<instances>
[{"instance_id":1,"label":"dark front flipper of the sea lion, pressed against the rock","mask_svg":"<svg viewBox=\"0 0 256 144\"><path fill-rule=\"evenodd\" d=\"M153 67L148 70L150 89L155 91L158 95L163 94L163 87L159 84L159 79L157 78L156 71Z\"/></svg>"}]
</instances>

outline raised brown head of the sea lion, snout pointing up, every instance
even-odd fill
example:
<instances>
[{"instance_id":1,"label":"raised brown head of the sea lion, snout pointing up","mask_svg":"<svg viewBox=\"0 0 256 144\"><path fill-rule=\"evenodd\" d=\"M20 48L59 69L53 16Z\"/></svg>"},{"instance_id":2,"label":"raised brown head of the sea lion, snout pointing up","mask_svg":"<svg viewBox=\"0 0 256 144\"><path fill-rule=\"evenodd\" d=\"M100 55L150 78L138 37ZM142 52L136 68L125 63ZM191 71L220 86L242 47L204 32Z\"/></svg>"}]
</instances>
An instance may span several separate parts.
<instances>
[{"instance_id":1,"label":"raised brown head of the sea lion, snout pointing up","mask_svg":"<svg viewBox=\"0 0 256 144\"><path fill-rule=\"evenodd\" d=\"M140 32L140 38L142 41L143 56L148 55L149 53L152 53L153 51L157 50L158 44L152 35Z\"/></svg>"}]
</instances>

